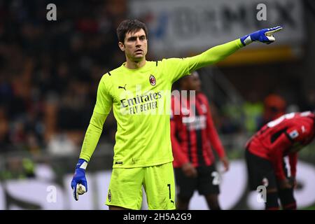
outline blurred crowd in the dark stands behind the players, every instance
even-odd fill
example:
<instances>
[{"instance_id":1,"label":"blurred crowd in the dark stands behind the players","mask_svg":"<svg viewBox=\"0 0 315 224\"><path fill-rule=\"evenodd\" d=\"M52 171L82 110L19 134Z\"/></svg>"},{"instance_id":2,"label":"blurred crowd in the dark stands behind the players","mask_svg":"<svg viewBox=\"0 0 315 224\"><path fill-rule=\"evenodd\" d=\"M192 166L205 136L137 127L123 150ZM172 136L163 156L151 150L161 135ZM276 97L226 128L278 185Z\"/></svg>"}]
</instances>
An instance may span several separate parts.
<instances>
[{"instance_id":1,"label":"blurred crowd in the dark stands behind the players","mask_svg":"<svg viewBox=\"0 0 315 224\"><path fill-rule=\"evenodd\" d=\"M52 2L57 21L46 20ZM126 16L125 0L0 1L0 153L78 155L99 80L125 60L116 27ZM298 109L314 105L313 90ZM251 134L294 109L270 94L214 107L214 118L220 133ZM111 114L101 141L113 143L115 132Z\"/></svg>"}]
</instances>

